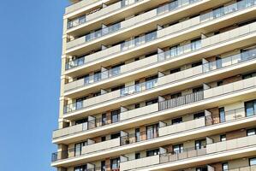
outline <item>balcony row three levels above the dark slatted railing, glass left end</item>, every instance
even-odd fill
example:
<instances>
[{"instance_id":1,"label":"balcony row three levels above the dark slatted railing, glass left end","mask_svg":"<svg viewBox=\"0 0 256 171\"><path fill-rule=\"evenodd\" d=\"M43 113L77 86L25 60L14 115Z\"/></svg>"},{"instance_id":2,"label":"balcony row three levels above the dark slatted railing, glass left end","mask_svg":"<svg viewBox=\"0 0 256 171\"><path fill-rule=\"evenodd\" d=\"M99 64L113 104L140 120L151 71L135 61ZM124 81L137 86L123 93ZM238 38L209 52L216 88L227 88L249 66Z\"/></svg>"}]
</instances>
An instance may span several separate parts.
<instances>
[{"instance_id":1,"label":"balcony row three levels above the dark slatted railing, glass left end","mask_svg":"<svg viewBox=\"0 0 256 171\"><path fill-rule=\"evenodd\" d=\"M177 33L180 33L182 31L186 31L188 30L188 28L195 28L195 27L205 27L205 25L207 25L207 27L210 27L210 25L212 23L210 23L209 21L216 21L217 19L222 19L223 20L223 16L227 15L227 18L233 17L234 18L234 14L235 12L239 12L242 9L249 9L253 7L253 3L245 3L245 1L242 1L240 3L235 3L237 7L237 10L231 10L231 6L229 7L225 7L223 10L225 11L224 13L221 13L220 15L214 15L216 13L216 11L212 11L209 14L205 14L205 15L200 15L198 17L195 17L191 20L188 21L183 21L181 23L178 23L174 26L170 26L167 28L164 28L162 30L159 30L157 32L154 32L154 36L152 36L151 34L148 34L146 37L149 38L150 41L147 41L146 38L141 37L141 38L137 38L134 40L130 40L124 44L117 44L116 46L110 47L106 50L101 50L98 51L96 53L93 53L92 55L88 55L84 57L84 60L81 60L80 62L78 61L74 61L74 62L69 62L67 63L67 68L75 68L84 64L89 64L90 62L95 62L98 61L100 59L105 58L106 56L113 56L113 55L120 55L121 52L127 51L127 50L132 50L138 46L141 46L143 44L152 42L152 40L159 40L159 41L166 41L164 40L165 37L167 38L167 36L177 36ZM234 5L232 6L234 7ZM226 18L226 19L227 19ZM230 19L229 19L230 21ZM233 21L235 22L235 21ZM238 22L238 21L236 21ZM235 24L235 23L234 23ZM209 25L209 26L208 26ZM181 30L182 28L182 30ZM211 27L210 27L211 28ZM212 30L212 29L211 29ZM152 37L152 38L150 38ZM111 36L112 38L112 36ZM86 39L85 38L81 38L82 40L77 40L77 44L82 44L81 42L85 42ZM185 39L184 39L185 40ZM69 44L69 43L68 43ZM70 44L74 44L71 43ZM162 45L161 45L162 46ZM122 48L123 47L123 48ZM87 49L86 49L87 50ZM68 52L69 53L69 52ZM83 61L83 62L82 62Z\"/></svg>"}]
</instances>

